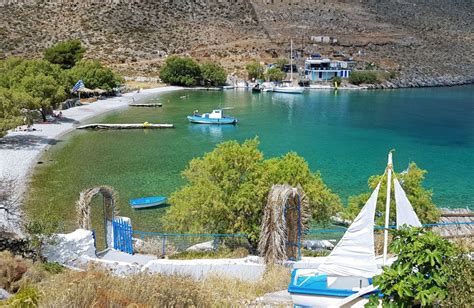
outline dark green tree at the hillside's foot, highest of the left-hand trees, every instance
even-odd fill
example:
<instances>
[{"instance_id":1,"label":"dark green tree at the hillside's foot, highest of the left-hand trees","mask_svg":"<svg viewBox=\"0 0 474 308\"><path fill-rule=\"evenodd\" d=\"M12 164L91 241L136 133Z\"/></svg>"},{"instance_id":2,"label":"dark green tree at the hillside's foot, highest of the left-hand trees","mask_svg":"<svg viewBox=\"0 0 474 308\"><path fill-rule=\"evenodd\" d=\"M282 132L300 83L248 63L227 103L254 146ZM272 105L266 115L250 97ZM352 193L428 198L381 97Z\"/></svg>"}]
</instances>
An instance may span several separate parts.
<instances>
[{"instance_id":1,"label":"dark green tree at the hillside's foot, highest of the left-hand trees","mask_svg":"<svg viewBox=\"0 0 474 308\"><path fill-rule=\"evenodd\" d=\"M86 49L82 47L80 40L69 40L45 49L43 55L45 60L69 69L81 61L85 52Z\"/></svg>"}]
</instances>

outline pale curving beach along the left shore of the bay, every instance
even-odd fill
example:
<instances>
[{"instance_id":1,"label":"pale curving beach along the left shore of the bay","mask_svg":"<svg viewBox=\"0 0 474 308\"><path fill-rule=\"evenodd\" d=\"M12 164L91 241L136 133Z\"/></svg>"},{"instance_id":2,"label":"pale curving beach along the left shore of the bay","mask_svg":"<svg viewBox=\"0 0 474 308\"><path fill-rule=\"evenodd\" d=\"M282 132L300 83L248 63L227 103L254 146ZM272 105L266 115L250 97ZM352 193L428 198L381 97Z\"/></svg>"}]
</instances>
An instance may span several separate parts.
<instances>
[{"instance_id":1,"label":"pale curving beach along the left shore of the bay","mask_svg":"<svg viewBox=\"0 0 474 308\"><path fill-rule=\"evenodd\" d=\"M17 194L23 197L28 177L36 161L48 146L54 145L58 138L74 129L82 121L109 111L126 108L128 104L138 102L150 95L179 90L180 87L162 87L142 90L140 93L126 93L119 97L62 110L62 118L53 123L33 125L33 131L10 131L0 138L0 177L17 181ZM0 210L0 230L18 231L13 219Z\"/></svg>"}]
</instances>

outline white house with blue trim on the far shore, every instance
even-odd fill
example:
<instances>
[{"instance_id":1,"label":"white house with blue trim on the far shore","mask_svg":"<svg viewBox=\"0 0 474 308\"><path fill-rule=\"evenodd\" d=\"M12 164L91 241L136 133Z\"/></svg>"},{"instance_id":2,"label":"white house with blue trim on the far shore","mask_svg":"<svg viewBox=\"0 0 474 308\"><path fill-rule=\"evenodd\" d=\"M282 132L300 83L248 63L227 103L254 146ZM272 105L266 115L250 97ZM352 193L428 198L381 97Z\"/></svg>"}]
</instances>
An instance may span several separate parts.
<instances>
[{"instance_id":1,"label":"white house with blue trim on the far shore","mask_svg":"<svg viewBox=\"0 0 474 308\"><path fill-rule=\"evenodd\" d=\"M304 74L310 81L327 81L334 77L347 78L351 68L347 61L330 60L327 58L308 58L304 62Z\"/></svg>"}]
</instances>

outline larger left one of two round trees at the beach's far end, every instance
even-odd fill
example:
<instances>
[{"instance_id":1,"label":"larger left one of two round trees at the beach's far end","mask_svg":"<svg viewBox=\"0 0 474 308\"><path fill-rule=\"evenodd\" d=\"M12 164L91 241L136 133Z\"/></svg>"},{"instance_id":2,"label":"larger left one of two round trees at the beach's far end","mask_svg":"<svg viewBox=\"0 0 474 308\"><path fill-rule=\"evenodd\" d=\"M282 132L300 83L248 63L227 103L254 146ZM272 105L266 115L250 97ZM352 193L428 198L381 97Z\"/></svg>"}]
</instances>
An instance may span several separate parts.
<instances>
[{"instance_id":1,"label":"larger left one of two round trees at the beach's far end","mask_svg":"<svg viewBox=\"0 0 474 308\"><path fill-rule=\"evenodd\" d=\"M160 78L171 85L195 86L202 78L201 68L192 58L171 56L160 69Z\"/></svg>"}]
</instances>

